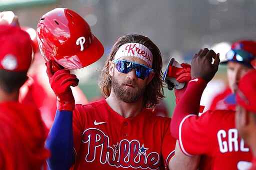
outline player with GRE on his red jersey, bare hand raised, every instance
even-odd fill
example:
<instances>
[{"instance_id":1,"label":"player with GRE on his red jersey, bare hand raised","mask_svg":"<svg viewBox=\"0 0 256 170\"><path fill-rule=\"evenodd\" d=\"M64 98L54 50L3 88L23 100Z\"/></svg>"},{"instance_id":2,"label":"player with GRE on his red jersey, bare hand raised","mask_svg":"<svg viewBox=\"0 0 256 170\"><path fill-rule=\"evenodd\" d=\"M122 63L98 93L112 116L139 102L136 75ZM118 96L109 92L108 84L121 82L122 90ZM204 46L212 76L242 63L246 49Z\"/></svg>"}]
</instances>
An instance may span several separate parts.
<instances>
[{"instance_id":1,"label":"player with GRE on his red jersey, bare hand raised","mask_svg":"<svg viewBox=\"0 0 256 170\"><path fill-rule=\"evenodd\" d=\"M212 58L214 59L213 64ZM179 140L187 156L206 155L212 170L234 170L250 166L251 152L238 135L234 125L235 112L207 111L198 117L201 94L219 63L218 54L207 48L191 61L191 78L177 102L171 121L171 134Z\"/></svg>"}]
</instances>

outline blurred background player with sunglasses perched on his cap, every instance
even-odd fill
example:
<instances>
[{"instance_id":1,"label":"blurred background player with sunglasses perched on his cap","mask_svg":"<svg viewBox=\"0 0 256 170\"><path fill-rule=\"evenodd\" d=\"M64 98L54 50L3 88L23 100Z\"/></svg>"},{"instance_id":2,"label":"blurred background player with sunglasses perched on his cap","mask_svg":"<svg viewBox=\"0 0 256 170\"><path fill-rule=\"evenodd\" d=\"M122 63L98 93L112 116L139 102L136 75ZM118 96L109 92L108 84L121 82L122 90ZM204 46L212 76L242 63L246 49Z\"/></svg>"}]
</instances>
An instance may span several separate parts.
<instances>
[{"instance_id":1,"label":"blurred background player with sunglasses perched on his cap","mask_svg":"<svg viewBox=\"0 0 256 170\"><path fill-rule=\"evenodd\" d=\"M226 53L226 60L220 64L227 65L228 86L218 94L209 107L209 110L230 109L235 110L235 105L226 102L226 99L233 98L234 86L237 86L240 78L249 70L253 69L250 63L256 57L256 42L252 40L239 40L231 45Z\"/></svg>"}]
</instances>

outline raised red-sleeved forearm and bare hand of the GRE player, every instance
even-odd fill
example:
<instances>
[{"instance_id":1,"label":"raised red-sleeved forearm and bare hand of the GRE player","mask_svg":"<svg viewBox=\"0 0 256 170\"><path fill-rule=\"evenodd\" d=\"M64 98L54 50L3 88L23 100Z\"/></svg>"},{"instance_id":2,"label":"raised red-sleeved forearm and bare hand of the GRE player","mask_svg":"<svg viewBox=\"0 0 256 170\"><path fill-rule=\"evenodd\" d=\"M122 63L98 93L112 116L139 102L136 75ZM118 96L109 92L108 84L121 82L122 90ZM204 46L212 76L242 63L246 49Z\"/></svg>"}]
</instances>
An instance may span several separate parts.
<instances>
[{"instance_id":1,"label":"raised red-sleeved forearm and bare hand of the GRE player","mask_svg":"<svg viewBox=\"0 0 256 170\"><path fill-rule=\"evenodd\" d=\"M212 64L212 58L214 62ZM201 94L218 69L219 55L204 48L191 61L191 78L184 94L177 103L170 126L171 134L178 139L179 124L188 114L198 114Z\"/></svg>"}]
</instances>

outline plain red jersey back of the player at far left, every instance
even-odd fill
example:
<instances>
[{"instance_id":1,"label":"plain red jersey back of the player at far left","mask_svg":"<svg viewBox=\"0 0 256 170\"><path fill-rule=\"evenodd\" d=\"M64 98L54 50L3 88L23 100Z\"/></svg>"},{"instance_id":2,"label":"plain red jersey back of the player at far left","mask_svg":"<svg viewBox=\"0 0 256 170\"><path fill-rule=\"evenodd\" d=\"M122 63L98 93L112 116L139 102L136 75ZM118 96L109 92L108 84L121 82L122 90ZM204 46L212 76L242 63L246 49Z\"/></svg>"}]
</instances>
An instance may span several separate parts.
<instances>
[{"instance_id":1,"label":"plain red jersey back of the player at far left","mask_svg":"<svg viewBox=\"0 0 256 170\"><path fill-rule=\"evenodd\" d=\"M39 111L16 102L0 103L0 170L40 170L49 152Z\"/></svg>"}]
</instances>

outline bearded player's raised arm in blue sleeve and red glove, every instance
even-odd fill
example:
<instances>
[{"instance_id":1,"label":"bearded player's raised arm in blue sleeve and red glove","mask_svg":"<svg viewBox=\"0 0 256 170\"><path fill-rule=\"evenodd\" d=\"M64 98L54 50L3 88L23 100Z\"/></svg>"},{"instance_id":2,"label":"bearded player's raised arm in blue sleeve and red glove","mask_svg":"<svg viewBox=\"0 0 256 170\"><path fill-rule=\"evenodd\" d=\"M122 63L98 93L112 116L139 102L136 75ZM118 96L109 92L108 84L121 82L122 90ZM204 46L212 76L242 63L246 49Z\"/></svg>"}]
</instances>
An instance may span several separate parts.
<instances>
[{"instance_id":1,"label":"bearded player's raised arm in blue sleeve and red glove","mask_svg":"<svg viewBox=\"0 0 256 170\"><path fill-rule=\"evenodd\" d=\"M57 111L45 147L51 152L47 164L52 170L68 170L73 164L72 111L74 97L70 86L77 86L76 76L69 70L52 71L52 62L47 62L47 75L57 98Z\"/></svg>"}]
</instances>

